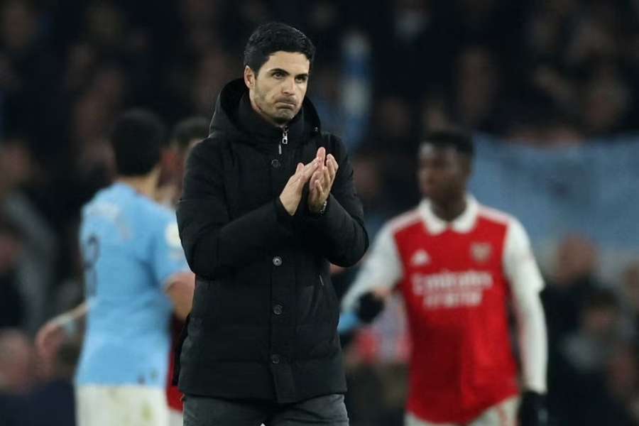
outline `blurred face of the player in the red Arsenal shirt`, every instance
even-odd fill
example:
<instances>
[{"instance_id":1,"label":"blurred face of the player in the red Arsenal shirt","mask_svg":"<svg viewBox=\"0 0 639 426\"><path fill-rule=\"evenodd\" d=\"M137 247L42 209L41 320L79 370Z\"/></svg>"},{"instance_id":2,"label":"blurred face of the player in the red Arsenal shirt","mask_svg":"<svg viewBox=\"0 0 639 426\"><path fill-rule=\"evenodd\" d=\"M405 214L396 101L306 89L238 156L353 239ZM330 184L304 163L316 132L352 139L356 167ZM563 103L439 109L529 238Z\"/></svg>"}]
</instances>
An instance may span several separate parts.
<instances>
[{"instance_id":1,"label":"blurred face of the player in the red Arsenal shirt","mask_svg":"<svg viewBox=\"0 0 639 426\"><path fill-rule=\"evenodd\" d=\"M423 143L420 147L417 180L422 196L433 202L447 202L466 192L470 160L452 147Z\"/></svg>"}]
</instances>

